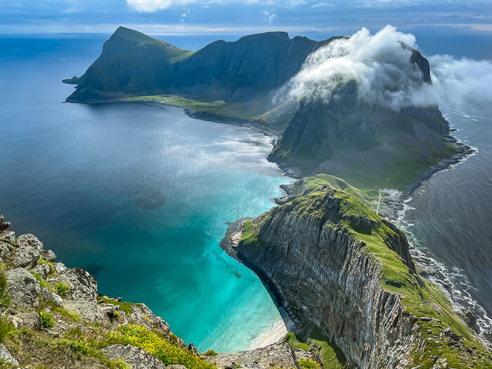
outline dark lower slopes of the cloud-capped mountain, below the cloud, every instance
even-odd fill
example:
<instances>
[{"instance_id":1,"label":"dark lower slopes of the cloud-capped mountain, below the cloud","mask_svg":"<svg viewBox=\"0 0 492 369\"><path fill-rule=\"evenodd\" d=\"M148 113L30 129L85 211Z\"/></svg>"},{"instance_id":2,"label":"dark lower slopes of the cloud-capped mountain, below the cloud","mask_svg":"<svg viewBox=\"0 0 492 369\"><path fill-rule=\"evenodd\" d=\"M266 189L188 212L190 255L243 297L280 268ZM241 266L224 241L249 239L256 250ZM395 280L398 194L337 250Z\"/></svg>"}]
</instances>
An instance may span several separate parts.
<instances>
[{"instance_id":1,"label":"dark lower slopes of the cloud-capped mountain, below the cloud","mask_svg":"<svg viewBox=\"0 0 492 369\"><path fill-rule=\"evenodd\" d=\"M300 101L268 160L309 175L342 167L383 168L444 148L442 134L449 125L438 107L391 110L361 101L357 89L351 81L337 86L328 102ZM409 145L409 150L399 149Z\"/></svg>"}]
</instances>

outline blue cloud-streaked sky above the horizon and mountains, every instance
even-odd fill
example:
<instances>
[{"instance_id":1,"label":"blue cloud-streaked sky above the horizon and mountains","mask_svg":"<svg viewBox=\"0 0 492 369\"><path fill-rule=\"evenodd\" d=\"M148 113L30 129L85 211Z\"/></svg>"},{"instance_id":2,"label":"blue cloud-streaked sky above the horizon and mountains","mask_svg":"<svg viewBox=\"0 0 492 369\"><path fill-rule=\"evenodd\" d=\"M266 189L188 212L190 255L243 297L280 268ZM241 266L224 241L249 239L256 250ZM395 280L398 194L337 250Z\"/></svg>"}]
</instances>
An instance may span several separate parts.
<instances>
[{"instance_id":1,"label":"blue cloud-streaked sky above the horizon and mountains","mask_svg":"<svg viewBox=\"0 0 492 369\"><path fill-rule=\"evenodd\" d=\"M0 0L0 33L112 32L118 25L161 35L285 30L313 38L376 31L492 34L482 0ZM319 37L316 37L316 36Z\"/></svg>"}]
</instances>

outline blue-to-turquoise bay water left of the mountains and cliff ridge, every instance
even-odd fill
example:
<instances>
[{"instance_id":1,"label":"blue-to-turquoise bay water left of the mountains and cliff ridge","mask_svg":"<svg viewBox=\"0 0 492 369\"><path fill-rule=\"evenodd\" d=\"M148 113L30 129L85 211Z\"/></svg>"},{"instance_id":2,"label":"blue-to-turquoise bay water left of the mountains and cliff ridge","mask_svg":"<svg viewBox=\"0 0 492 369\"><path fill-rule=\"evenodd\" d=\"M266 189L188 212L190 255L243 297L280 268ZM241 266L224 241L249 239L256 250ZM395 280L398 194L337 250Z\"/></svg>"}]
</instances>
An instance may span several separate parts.
<instances>
[{"instance_id":1,"label":"blue-to-turquoise bay water left of the mountains and cliff ridge","mask_svg":"<svg viewBox=\"0 0 492 369\"><path fill-rule=\"evenodd\" d=\"M270 209L290 182L266 161L270 138L179 108L61 103L72 86L60 80L101 44L1 41L0 214L187 342L247 349L280 314L219 242L227 221Z\"/></svg>"}]
</instances>

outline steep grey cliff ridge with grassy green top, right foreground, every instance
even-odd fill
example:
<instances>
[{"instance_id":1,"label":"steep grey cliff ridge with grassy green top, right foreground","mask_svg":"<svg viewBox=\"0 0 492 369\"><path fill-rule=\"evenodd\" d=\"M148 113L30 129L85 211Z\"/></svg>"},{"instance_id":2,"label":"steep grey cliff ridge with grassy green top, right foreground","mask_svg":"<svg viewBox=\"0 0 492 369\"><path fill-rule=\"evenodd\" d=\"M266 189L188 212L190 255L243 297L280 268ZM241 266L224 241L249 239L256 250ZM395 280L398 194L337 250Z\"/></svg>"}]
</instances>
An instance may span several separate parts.
<instances>
[{"instance_id":1,"label":"steep grey cliff ridge with grassy green top, right foreground","mask_svg":"<svg viewBox=\"0 0 492 369\"><path fill-rule=\"evenodd\" d=\"M298 186L294 200L246 221L235 249L303 335L321 328L358 368L491 368L444 294L416 273L403 232L341 190Z\"/></svg>"}]
</instances>

